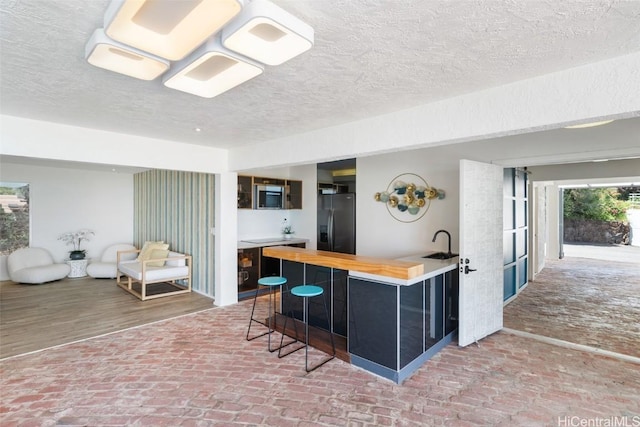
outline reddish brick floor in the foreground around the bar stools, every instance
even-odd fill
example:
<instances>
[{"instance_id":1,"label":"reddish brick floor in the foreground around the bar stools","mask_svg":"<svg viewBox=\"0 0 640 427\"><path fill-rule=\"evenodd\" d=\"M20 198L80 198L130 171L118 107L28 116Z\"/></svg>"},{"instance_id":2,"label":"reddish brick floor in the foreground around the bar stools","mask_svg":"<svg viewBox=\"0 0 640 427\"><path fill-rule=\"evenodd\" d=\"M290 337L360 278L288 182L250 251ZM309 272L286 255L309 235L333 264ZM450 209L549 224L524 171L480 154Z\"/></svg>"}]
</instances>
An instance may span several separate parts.
<instances>
[{"instance_id":1,"label":"reddish brick floor in the foreground around the bar stools","mask_svg":"<svg viewBox=\"0 0 640 427\"><path fill-rule=\"evenodd\" d=\"M266 337L245 340L250 310L245 301L5 359L0 424L640 422L640 366L631 362L497 333L480 346L447 346L403 385L338 359L306 374L303 352L278 359Z\"/></svg>"}]
</instances>

